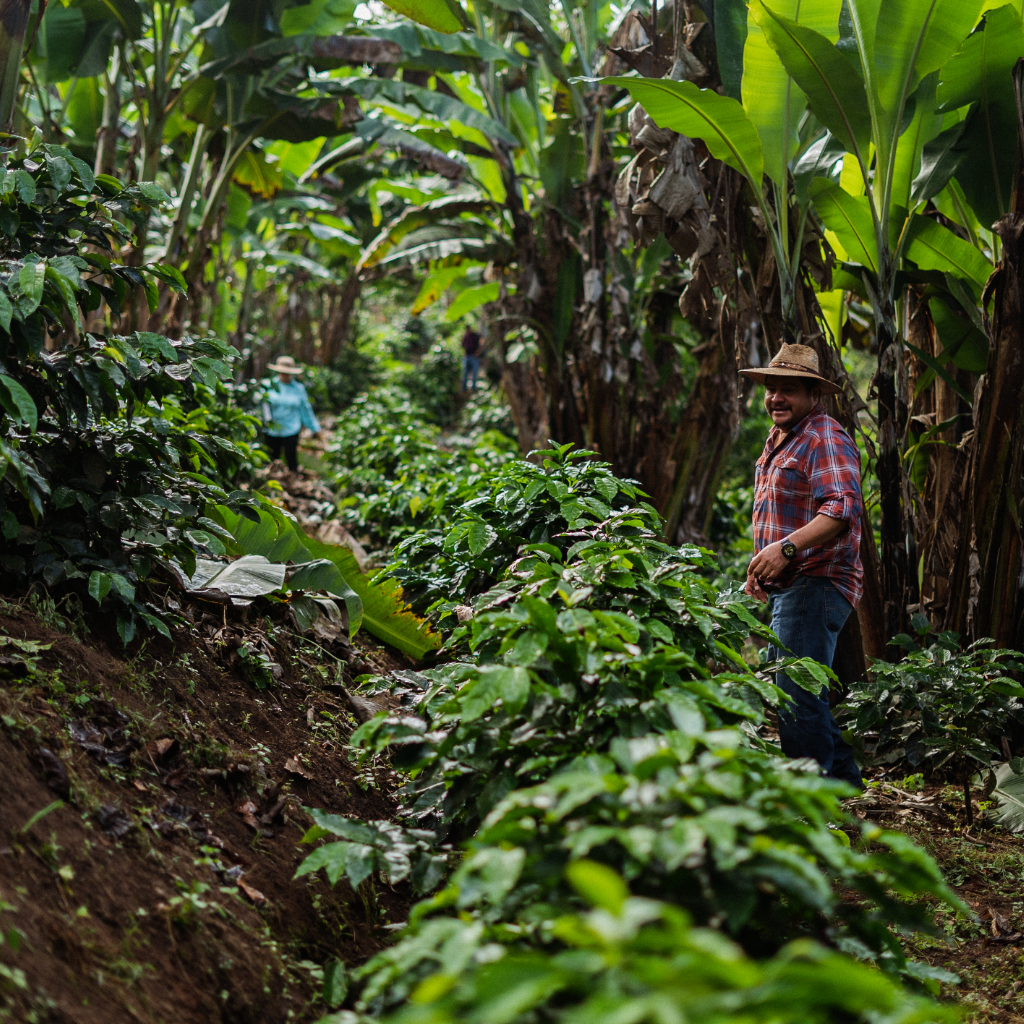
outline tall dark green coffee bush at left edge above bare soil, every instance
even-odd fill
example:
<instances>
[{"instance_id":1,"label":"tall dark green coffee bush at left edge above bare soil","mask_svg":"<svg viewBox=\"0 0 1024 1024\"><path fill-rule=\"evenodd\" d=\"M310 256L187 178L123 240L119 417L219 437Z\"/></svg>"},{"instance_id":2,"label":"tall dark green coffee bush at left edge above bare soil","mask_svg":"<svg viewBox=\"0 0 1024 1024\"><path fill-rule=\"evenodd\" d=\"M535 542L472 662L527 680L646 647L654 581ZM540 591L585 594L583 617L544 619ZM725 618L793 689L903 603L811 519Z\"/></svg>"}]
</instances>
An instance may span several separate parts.
<instances>
[{"instance_id":1,"label":"tall dark green coffee bush at left edge above bare soil","mask_svg":"<svg viewBox=\"0 0 1024 1024\"><path fill-rule=\"evenodd\" d=\"M126 643L140 620L167 632L139 585L168 559L195 570L208 506L248 503L233 486L256 458L255 422L224 384L229 346L82 328L80 307L116 313L137 287L151 305L155 281L180 287L172 268L109 255L126 236L115 215L165 200L146 182L97 182L59 146L12 161L0 184L0 566L8 583L111 600Z\"/></svg>"}]
</instances>

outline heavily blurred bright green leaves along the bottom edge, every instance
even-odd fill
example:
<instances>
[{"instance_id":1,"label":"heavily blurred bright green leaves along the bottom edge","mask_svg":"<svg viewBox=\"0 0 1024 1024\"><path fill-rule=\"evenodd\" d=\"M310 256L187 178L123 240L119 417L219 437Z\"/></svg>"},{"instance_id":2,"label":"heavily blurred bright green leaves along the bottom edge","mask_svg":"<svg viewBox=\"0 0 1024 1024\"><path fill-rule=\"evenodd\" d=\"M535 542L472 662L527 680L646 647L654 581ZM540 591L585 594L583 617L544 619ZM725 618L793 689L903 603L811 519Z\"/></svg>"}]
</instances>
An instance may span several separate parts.
<instances>
[{"instance_id":1,"label":"heavily blurred bright green leaves along the bottom edge","mask_svg":"<svg viewBox=\"0 0 1024 1024\"><path fill-rule=\"evenodd\" d=\"M390 1024L924 1024L958 1017L953 1008L908 996L878 971L808 940L755 963L721 934L694 928L671 903L630 896L600 864L578 861L569 880L593 909L553 923L558 952L497 949L466 964L462 936L453 929L439 970L387 1018Z\"/></svg>"}]
</instances>

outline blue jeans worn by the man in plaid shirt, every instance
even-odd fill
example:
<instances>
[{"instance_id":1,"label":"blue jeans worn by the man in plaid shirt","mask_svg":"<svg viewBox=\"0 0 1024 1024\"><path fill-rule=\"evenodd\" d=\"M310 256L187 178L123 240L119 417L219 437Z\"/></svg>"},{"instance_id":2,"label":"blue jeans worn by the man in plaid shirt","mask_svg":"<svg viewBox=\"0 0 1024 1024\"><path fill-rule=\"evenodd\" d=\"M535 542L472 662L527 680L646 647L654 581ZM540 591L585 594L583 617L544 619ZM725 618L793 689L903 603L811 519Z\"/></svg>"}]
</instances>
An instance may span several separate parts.
<instances>
[{"instance_id":1,"label":"blue jeans worn by the man in plaid shirt","mask_svg":"<svg viewBox=\"0 0 1024 1024\"><path fill-rule=\"evenodd\" d=\"M824 577L798 575L793 584L772 593L771 628L797 657L810 657L831 668L840 630L853 610L850 602ZM772 659L778 648L768 648ZM779 711L778 735L787 758L814 758L821 773L864 787L850 744L843 738L828 708L828 687L817 695L798 686L784 673L775 682L794 702Z\"/></svg>"}]
</instances>

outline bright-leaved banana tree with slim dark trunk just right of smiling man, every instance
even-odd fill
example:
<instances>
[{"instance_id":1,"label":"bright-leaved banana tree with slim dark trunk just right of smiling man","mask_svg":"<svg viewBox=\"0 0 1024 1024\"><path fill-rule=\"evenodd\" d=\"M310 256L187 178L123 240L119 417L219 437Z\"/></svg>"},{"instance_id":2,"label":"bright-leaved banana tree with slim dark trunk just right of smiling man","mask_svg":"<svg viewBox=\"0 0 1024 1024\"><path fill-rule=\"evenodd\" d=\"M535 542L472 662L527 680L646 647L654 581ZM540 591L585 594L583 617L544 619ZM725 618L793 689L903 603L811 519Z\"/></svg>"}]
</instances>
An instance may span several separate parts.
<instances>
[{"instance_id":1,"label":"bright-leaved banana tree with slim dark trunk just right of smiling man","mask_svg":"<svg viewBox=\"0 0 1024 1024\"><path fill-rule=\"evenodd\" d=\"M902 629L916 590L901 451L907 404L898 274L905 265L950 273L980 298L991 270L978 249L918 212L923 200L912 187L925 145L942 127L940 69L975 28L982 7L982 0L850 0L842 46L763 3L751 11L811 111L859 172L847 176L848 187L816 179L809 195L840 249L857 264L874 311L881 564L890 635Z\"/></svg>"}]
</instances>

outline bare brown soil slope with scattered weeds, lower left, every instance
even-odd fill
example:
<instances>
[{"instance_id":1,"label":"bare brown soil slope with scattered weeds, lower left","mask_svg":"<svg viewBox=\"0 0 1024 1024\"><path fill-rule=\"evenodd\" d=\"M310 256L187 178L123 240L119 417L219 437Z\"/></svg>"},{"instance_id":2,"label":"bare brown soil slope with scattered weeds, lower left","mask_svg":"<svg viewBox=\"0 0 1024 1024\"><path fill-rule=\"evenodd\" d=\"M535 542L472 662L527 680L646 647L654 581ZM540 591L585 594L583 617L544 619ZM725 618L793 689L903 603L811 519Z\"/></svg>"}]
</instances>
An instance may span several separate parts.
<instances>
[{"instance_id":1,"label":"bare brown soil slope with scattered weeds, lower left","mask_svg":"<svg viewBox=\"0 0 1024 1024\"><path fill-rule=\"evenodd\" d=\"M109 623L0 608L0 1019L314 1020L321 965L404 920L386 886L293 881L303 806L391 816L343 742L344 683L392 659L194 617L126 654Z\"/></svg>"}]
</instances>

